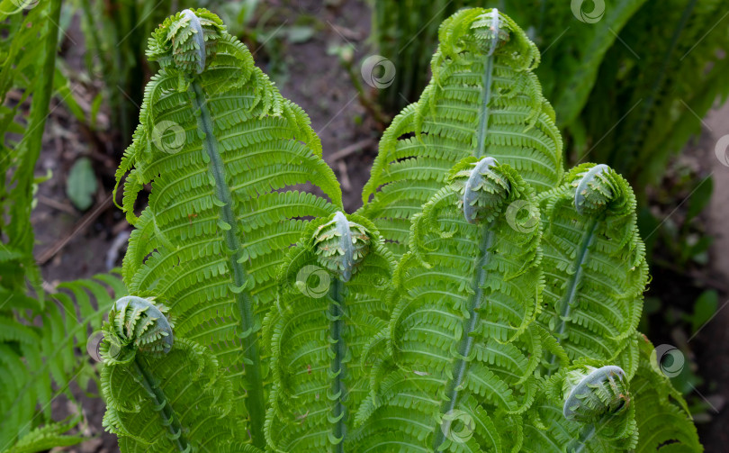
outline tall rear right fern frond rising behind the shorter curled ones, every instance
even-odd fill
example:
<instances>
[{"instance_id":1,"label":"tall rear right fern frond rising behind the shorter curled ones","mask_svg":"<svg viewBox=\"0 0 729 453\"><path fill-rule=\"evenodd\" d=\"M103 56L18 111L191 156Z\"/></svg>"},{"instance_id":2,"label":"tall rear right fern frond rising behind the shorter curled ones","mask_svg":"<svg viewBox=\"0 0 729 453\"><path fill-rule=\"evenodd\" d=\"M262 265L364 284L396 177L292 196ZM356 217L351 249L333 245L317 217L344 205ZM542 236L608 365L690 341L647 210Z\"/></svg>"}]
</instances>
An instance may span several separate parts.
<instances>
[{"instance_id":1,"label":"tall rear right fern frond rising behind the shorter curled ones","mask_svg":"<svg viewBox=\"0 0 729 453\"><path fill-rule=\"evenodd\" d=\"M516 168L537 192L562 176L562 138L532 69L534 43L497 10L461 11L440 27L433 78L385 131L362 213L392 250L407 250L410 218L467 156ZM370 200L370 197L374 198Z\"/></svg>"}]
</instances>

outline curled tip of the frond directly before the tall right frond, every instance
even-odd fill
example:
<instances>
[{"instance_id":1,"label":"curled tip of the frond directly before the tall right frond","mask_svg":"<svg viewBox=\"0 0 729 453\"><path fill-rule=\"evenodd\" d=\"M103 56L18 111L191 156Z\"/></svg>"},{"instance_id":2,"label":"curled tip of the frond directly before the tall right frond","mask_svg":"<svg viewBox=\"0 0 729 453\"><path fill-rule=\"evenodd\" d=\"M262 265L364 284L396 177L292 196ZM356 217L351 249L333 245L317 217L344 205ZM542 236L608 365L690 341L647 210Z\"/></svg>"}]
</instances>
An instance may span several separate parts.
<instances>
[{"instance_id":1,"label":"curled tip of the frond directly before the tall right frond","mask_svg":"<svg viewBox=\"0 0 729 453\"><path fill-rule=\"evenodd\" d=\"M483 158L465 166L456 166L451 183L461 195L468 222L491 222L509 196L509 180L497 168L493 158Z\"/></svg>"}]
</instances>

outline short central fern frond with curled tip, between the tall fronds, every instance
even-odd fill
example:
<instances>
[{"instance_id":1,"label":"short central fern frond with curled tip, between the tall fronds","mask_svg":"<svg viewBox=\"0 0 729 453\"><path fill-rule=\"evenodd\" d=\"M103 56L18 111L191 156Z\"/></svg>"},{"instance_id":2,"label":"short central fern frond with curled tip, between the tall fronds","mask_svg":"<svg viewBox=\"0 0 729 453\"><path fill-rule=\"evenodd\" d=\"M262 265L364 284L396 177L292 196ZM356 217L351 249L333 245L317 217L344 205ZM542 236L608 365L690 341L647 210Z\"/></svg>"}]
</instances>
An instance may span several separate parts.
<instances>
[{"instance_id":1,"label":"short central fern frond with curled tip, between the tall fronds","mask_svg":"<svg viewBox=\"0 0 729 453\"><path fill-rule=\"evenodd\" d=\"M356 215L312 222L279 276L279 311L266 319L274 389L266 435L276 451L345 451L368 394L361 358L387 325L392 254Z\"/></svg>"}]
</instances>

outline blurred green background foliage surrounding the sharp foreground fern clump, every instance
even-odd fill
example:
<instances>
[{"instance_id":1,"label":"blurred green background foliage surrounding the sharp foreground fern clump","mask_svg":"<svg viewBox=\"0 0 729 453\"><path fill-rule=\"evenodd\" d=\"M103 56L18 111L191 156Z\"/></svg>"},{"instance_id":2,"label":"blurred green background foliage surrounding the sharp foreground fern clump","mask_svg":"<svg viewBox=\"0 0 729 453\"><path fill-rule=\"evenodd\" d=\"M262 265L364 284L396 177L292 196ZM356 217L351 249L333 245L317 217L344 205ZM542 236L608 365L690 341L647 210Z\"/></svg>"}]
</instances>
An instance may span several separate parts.
<instances>
[{"instance_id":1,"label":"blurred green background foliage surrounding the sharp foreground fern clump","mask_svg":"<svg viewBox=\"0 0 729 453\"><path fill-rule=\"evenodd\" d=\"M371 14L364 36L331 19L360 3ZM53 254L33 255L31 212L39 184L65 177L70 209L84 219L111 206L112 171L154 72L144 57L148 36L167 15L193 6L219 14L279 86L298 83L289 64L292 46L333 30L329 53L338 56L368 117L356 116L351 127L366 129L370 142L428 83L439 23L464 6L498 7L512 16L542 52L536 74L557 113L567 164L607 163L635 188L653 274L642 330L694 357L689 340L715 316L727 287L707 276L712 239L704 218L712 174L680 153L729 94L725 2L0 0L0 364L28 365L23 376L0 376L13 389L0 394L0 452L83 438L83 411L59 416L50 403L64 394L77 407L72 384L94 394L85 339L110 294L123 291L113 274L66 285L43 280L38 263ZM392 85L379 90L360 75L362 61L373 54L397 69ZM92 150L75 156L67 175L39 177L53 96ZM341 152L348 156L352 149ZM358 173L364 181L365 169ZM358 189L352 192L356 198ZM707 384L693 363L674 381L687 394ZM699 419L707 418L706 400L692 401Z\"/></svg>"}]
</instances>

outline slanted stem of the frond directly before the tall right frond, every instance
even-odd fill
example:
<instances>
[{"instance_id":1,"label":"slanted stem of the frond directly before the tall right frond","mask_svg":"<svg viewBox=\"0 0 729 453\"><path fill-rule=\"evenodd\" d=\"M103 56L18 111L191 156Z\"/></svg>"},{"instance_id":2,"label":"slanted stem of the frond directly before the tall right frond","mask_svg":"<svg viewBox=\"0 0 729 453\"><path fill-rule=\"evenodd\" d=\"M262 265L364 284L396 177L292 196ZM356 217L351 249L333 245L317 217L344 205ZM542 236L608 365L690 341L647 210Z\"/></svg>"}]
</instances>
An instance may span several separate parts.
<instances>
[{"instance_id":1,"label":"slanted stem of the frond directly before the tall right frond","mask_svg":"<svg viewBox=\"0 0 729 453\"><path fill-rule=\"evenodd\" d=\"M473 332L478 328L481 321L481 309L483 301L483 284L486 281L486 265L489 264L491 258L491 249L494 240L494 233L491 231L491 224L483 225L482 240L479 245L479 257L476 259L475 271L473 274L473 294L469 299L469 316L464 319L464 331L461 336L461 343L458 345L458 355L460 358L455 361L453 379L448 383L446 389L446 402L441 407L441 415L452 412L458 403L458 394L461 385L464 383L466 372L468 371L468 356L473 349ZM446 433L440 427L436 427L435 440L433 442L434 451L440 451L438 448L446 439Z\"/></svg>"}]
</instances>

